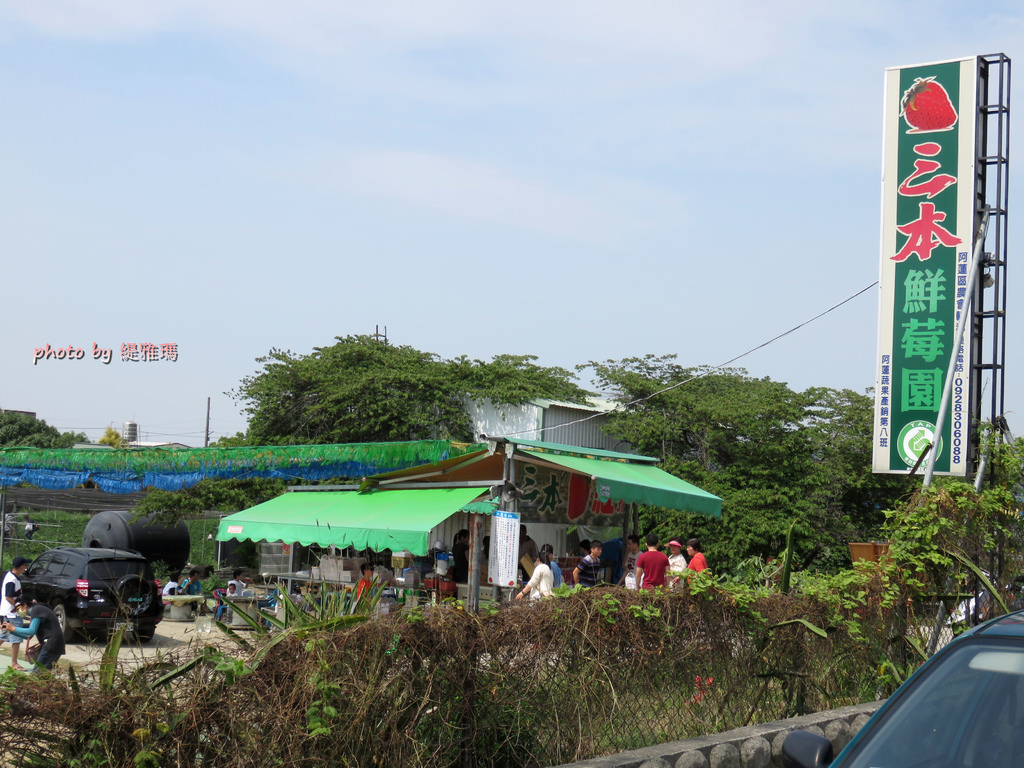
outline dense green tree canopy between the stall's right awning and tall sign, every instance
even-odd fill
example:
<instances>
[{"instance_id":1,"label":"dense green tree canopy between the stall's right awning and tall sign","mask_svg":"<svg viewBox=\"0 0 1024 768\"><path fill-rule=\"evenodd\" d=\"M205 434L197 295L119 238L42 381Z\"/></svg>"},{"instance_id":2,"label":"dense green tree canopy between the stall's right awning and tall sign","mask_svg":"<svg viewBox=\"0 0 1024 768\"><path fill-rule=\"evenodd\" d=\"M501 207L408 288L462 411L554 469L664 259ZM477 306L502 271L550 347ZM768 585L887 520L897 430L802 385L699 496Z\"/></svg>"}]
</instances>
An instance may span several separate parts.
<instances>
[{"instance_id":1,"label":"dense green tree canopy between the stall's right awning and tall sign","mask_svg":"<svg viewBox=\"0 0 1024 768\"><path fill-rule=\"evenodd\" d=\"M625 403L608 431L723 500L721 520L647 510L641 527L701 539L723 569L777 555L794 520L802 555L838 566L846 543L877 535L911 482L871 474L866 395L795 392L738 369L684 368L671 355L589 367Z\"/></svg>"}]
</instances>

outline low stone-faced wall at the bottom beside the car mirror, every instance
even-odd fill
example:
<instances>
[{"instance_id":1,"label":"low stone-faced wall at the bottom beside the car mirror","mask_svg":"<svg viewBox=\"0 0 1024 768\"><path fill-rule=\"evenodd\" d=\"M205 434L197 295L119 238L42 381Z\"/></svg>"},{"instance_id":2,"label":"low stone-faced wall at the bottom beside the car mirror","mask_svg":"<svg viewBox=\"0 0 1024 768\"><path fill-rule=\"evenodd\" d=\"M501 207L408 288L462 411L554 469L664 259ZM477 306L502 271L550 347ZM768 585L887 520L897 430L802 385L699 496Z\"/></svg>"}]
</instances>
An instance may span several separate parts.
<instances>
[{"instance_id":1,"label":"low stone-faced wall at the bottom beside the car mirror","mask_svg":"<svg viewBox=\"0 0 1024 768\"><path fill-rule=\"evenodd\" d=\"M826 736L838 755L882 703L871 701L711 736L669 741L559 768L781 768L782 740L790 731L805 730Z\"/></svg>"}]
</instances>

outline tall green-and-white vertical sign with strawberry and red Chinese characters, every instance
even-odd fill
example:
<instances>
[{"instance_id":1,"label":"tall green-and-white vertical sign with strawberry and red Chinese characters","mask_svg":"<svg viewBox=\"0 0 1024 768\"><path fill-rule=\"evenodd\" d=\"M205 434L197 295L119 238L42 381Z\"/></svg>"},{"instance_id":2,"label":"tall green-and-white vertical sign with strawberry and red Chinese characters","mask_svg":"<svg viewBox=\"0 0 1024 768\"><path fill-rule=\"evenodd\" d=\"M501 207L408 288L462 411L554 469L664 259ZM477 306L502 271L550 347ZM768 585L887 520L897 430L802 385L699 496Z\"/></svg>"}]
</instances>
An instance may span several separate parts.
<instances>
[{"instance_id":1,"label":"tall green-and-white vertical sign with strawberry and red Chinese characters","mask_svg":"<svg viewBox=\"0 0 1024 768\"><path fill-rule=\"evenodd\" d=\"M974 250L976 57L886 71L873 469L970 465L970 334L953 350ZM935 434L950 354L945 425Z\"/></svg>"}]
</instances>

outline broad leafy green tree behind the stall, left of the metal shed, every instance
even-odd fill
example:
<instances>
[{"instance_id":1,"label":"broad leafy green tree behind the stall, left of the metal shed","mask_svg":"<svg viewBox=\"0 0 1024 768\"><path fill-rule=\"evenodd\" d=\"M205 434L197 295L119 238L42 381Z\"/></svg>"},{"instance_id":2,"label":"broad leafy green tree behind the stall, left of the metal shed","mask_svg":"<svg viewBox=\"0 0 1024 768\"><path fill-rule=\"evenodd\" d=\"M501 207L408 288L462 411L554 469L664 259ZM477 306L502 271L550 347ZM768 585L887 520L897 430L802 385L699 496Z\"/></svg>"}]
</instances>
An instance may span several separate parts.
<instances>
[{"instance_id":1,"label":"broad leafy green tree behind the stall, left of the metal shed","mask_svg":"<svg viewBox=\"0 0 1024 768\"><path fill-rule=\"evenodd\" d=\"M395 346L372 336L338 338L305 355L272 349L228 395L244 403L249 444L471 440L467 397L581 401L573 374L535 357L490 362Z\"/></svg>"}]
</instances>

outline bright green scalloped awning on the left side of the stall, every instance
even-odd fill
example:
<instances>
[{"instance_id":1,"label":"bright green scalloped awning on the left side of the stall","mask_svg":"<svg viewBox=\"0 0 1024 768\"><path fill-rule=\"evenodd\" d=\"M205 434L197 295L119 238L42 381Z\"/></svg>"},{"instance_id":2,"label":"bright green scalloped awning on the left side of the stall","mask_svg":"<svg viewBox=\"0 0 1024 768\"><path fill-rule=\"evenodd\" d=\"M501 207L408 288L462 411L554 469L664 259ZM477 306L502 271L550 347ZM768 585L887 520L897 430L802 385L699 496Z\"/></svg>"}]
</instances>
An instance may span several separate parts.
<instances>
[{"instance_id":1,"label":"bright green scalloped awning on the left side of the stall","mask_svg":"<svg viewBox=\"0 0 1024 768\"><path fill-rule=\"evenodd\" d=\"M486 487L291 492L223 518L217 541L408 549L425 555L430 529L486 492Z\"/></svg>"}]
</instances>

